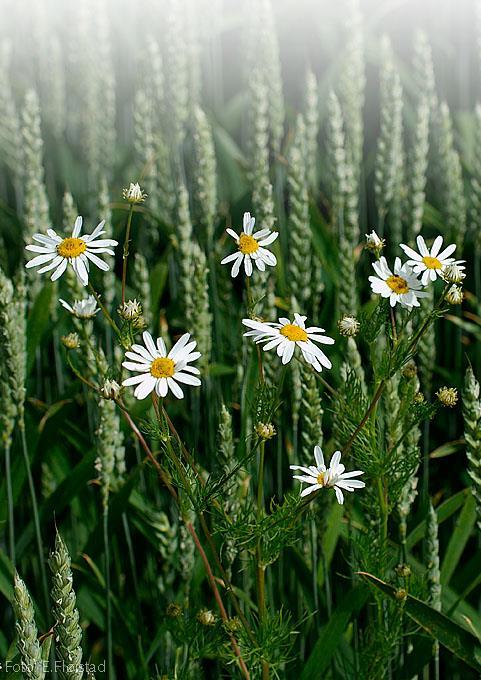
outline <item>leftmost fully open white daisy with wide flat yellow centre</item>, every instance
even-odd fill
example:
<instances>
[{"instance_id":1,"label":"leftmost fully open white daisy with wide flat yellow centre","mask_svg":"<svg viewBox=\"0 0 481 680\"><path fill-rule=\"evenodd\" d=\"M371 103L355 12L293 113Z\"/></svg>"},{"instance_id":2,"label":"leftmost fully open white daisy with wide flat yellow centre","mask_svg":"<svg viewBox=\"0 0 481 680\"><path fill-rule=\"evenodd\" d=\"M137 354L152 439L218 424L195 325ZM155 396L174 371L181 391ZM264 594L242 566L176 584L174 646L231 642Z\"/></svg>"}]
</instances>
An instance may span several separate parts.
<instances>
[{"instance_id":1,"label":"leftmost fully open white daisy with wide flat yellow centre","mask_svg":"<svg viewBox=\"0 0 481 680\"><path fill-rule=\"evenodd\" d=\"M34 234L33 240L41 245L28 245L26 249L34 253L40 253L40 255L27 262L25 266L27 269L30 269L30 267L43 265L38 270L39 274L54 269L55 271L50 278L52 281L55 281L62 276L67 269L67 265L70 264L79 281L82 285L86 286L89 282L90 262L97 265L99 269L107 271L109 265L98 256L101 253L114 255L115 253L111 247L118 245L117 241L113 239L98 238L105 234L104 224L105 220L102 220L91 234L80 236L82 218L79 216L75 220L72 236L62 239L53 229L47 229L48 236Z\"/></svg>"}]
</instances>

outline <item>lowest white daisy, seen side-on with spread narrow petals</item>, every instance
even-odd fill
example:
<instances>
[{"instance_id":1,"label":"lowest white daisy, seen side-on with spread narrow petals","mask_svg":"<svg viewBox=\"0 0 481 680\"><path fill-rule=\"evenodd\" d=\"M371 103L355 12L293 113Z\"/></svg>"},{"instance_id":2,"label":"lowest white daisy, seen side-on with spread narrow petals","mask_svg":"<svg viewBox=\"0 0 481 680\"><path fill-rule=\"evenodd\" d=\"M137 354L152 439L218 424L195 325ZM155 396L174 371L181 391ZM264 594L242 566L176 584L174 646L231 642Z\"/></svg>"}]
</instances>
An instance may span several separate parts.
<instances>
[{"instance_id":1,"label":"lowest white daisy, seen side-on with spread narrow petals","mask_svg":"<svg viewBox=\"0 0 481 680\"><path fill-rule=\"evenodd\" d=\"M334 488L337 501L342 505L344 503L343 491L354 491L354 489L363 489L366 486L360 479L353 479L353 477L364 474L361 470L344 472L346 468L341 463L340 451L336 451L333 454L328 468L324 462L320 446L314 447L314 458L316 459L316 464L309 467L290 465L291 470L301 470L304 473L302 475L294 475L294 479L309 485L301 491L301 496L308 496L313 491L323 487Z\"/></svg>"}]
</instances>

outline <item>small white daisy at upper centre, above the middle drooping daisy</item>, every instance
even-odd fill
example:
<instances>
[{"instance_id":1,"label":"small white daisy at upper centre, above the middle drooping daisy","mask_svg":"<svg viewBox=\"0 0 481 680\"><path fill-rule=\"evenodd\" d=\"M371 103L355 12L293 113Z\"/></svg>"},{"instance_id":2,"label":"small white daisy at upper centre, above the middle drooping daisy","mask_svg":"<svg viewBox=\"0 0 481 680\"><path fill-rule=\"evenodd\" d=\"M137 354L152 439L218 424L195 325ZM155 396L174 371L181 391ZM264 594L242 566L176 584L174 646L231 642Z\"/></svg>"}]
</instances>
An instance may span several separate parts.
<instances>
[{"instance_id":1,"label":"small white daisy at upper centre, above the middle drooping daisy","mask_svg":"<svg viewBox=\"0 0 481 680\"><path fill-rule=\"evenodd\" d=\"M233 229L226 229L229 236L237 243L238 251L232 255L227 255L221 261L221 264L233 262L231 276L236 277L239 273L240 266L244 260L244 270L247 276L252 274L252 261L254 261L257 269L261 272L265 271L266 264L274 267L277 264L277 258L274 253L267 250L265 246L274 243L279 236L279 232L271 231L270 229L260 229L254 231L255 217L251 217L250 213L244 213L243 231L239 236Z\"/></svg>"}]
</instances>

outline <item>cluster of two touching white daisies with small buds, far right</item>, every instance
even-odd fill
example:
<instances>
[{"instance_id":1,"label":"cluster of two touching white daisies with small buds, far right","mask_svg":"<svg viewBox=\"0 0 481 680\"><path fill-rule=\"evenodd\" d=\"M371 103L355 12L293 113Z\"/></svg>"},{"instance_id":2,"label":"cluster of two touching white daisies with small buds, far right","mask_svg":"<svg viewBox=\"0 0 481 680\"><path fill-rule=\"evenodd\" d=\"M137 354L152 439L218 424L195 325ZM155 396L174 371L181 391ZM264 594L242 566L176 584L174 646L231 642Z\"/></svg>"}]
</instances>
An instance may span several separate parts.
<instances>
[{"instance_id":1,"label":"cluster of two touching white daisies with small buds, far right","mask_svg":"<svg viewBox=\"0 0 481 680\"><path fill-rule=\"evenodd\" d=\"M373 236L374 235L374 236ZM375 233L368 235L368 241L375 240ZM389 299L389 304L394 307L400 304L401 307L412 309L419 307L419 300L426 297L428 293L425 288L429 283L436 281L439 277L448 283L459 283L464 278L464 260L455 260L453 255L456 245L451 244L443 250L443 237L437 236L429 249L424 238L419 235L416 239L418 250L413 250L404 243L400 244L401 249L408 256L408 260L401 262L399 257L394 260L394 267L390 267L385 257L380 257L373 262L373 269L376 276L370 276L371 289L377 295ZM382 247L382 241L377 237L377 250ZM462 301L462 294L459 295L459 287L452 286L447 292L446 299L452 304Z\"/></svg>"}]
</instances>

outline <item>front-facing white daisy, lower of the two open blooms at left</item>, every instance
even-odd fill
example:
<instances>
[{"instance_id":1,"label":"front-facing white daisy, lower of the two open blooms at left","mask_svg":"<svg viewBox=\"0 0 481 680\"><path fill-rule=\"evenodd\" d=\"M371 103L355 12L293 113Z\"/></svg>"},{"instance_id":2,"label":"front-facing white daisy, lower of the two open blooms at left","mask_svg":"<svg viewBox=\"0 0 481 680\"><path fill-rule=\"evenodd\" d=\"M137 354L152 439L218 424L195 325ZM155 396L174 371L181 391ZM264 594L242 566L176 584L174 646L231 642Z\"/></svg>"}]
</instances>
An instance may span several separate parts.
<instances>
[{"instance_id":1,"label":"front-facing white daisy, lower of the two open blooms at left","mask_svg":"<svg viewBox=\"0 0 481 680\"><path fill-rule=\"evenodd\" d=\"M159 397L165 397L170 390L177 399L182 399L184 393L178 383L186 385L200 385L196 376L200 371L195 366L189 366L191 361L198 359L200 352L194 352L197 342L189 342L190 333L185 333L167 354L167 349L162 338L157 338L157 344L150 333L142 334L145 347L132 345L132 351L126 352L127 359L122 366L129 371L137 371L140 375L134 375L123 381L122 385L137 385L134 396L137 399L145 399L154 391Z\"/></svg>"}]
</instances>

